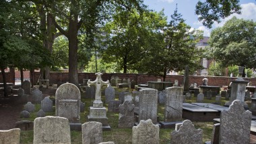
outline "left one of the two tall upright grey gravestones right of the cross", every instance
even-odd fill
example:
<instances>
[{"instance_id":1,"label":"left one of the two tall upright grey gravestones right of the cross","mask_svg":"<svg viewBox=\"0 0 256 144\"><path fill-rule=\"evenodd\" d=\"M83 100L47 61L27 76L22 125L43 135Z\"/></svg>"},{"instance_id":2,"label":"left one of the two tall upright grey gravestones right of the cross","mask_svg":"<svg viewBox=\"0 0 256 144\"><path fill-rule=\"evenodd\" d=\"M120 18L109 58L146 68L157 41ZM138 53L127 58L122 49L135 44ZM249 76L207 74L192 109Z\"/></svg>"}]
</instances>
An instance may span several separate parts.
<instances>
[{"instance_id":1,"label":"left one of the two tall upright grey gravestones right of the cross","mask_svg":"<svg viewBox=\"0 0 256 144\"><path fill-rule=\"evenodd\" d=\"M139 90L139 121L151 119L157 123L158 90L145 88Z\"/></svg>"}]
</instances>

